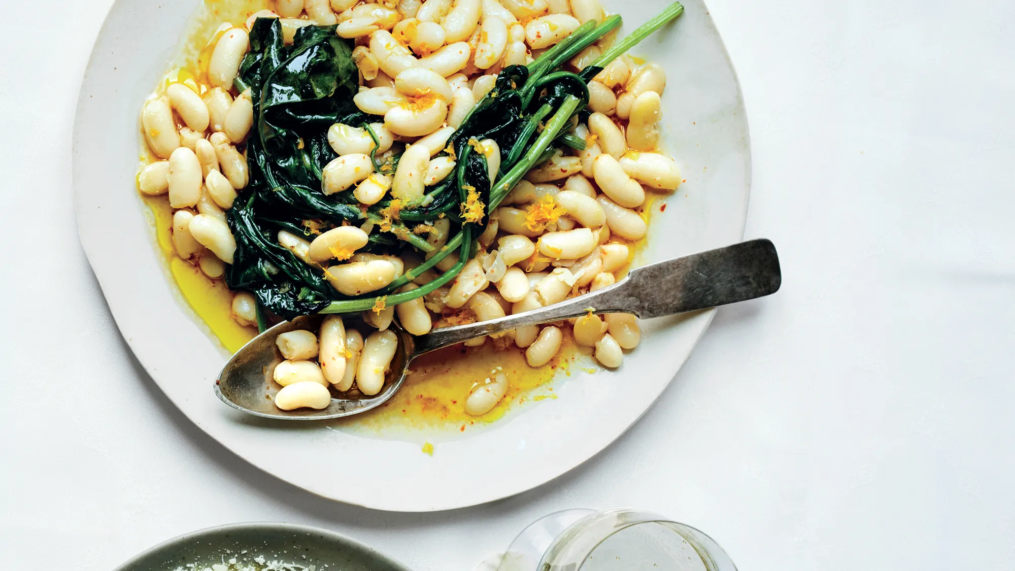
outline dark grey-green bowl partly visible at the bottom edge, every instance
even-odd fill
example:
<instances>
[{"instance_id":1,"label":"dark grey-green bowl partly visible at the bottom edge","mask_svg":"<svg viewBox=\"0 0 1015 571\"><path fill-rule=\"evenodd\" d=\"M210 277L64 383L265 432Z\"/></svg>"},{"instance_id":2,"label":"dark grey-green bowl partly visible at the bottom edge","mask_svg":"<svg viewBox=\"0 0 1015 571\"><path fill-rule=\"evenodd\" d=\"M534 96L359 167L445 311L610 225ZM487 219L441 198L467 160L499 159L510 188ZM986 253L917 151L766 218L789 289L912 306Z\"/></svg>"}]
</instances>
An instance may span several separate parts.
<instances>
[{"instance_id":1,"label":"dark grey-green bowl partly visible at the bottom edge","mask_svg":"<svg viewBox=\"0 0 1015 571\"><path fill-rule=\"evenodd\" d=\"M187 569L188 563L200 570L222 563L223 557L252 562L259 556L318 570L328 564L328 570L336 571L412 571L345 535L291 523L235 523L193 531L151 548L115 571L176 571Z\"/></svg>"}]
</instances>

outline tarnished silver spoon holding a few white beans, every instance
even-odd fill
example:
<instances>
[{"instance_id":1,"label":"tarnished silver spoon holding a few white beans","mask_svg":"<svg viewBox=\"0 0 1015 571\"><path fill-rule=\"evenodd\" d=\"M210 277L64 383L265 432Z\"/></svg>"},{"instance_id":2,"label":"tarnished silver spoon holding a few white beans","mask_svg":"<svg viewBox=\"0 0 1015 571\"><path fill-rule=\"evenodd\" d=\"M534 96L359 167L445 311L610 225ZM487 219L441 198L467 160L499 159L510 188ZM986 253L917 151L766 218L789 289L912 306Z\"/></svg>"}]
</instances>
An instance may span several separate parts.
<instances>
[{"instance_id":1,"label":"tarnished silver spoon holding a few white beans","mask_svg":"<svg viewBox=\"0 0 1015 571\"><path fill-rule=\"evenodd\" d=\"M282 410L275 406L272 371L282 361L275 337L287 331L316 331L321 315L279 323L244 345L219 373L215 394L238 410L282 421L321 421L365 413L387 402L402 388L409 364L430 352L493 333L554 323L594 313L630 313L642 319L664 317L769 296L779 291L782 273L775 246L768 240L744 242L631 270L624 279L597 292L543 309L458 327L434 329L419 337L396 323L399 347L385 388L376 396L333 398L323 410Z\"/></svg>"}]
</instances>

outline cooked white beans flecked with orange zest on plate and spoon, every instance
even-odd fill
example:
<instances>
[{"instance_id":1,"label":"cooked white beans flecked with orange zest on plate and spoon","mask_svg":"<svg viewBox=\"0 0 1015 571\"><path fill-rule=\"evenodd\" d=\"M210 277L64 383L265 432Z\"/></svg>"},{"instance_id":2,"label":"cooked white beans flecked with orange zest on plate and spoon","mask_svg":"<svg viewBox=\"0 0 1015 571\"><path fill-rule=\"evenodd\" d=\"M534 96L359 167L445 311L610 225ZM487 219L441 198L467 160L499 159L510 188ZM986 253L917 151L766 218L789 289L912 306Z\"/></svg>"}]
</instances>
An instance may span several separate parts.
<instances>
[{"instance_id":1,"label":"cooked white beans flecked with orange zest on plate and spoon","mask_svg":"<svg viewBox=\"0 0 1015 571\"><path fill-rule=\"evenodd\" d=\"M530 63L582 23L602 21L605 12L599 0L276 0L273 11L252 14L246 29L223 24L214 39L208 84L173 83L145 105L144 134L162 160L145 166L138 177L144 194L168 193L170 204L177 209L173 219L177 253L198 263L212 278L221 277L223 262L232 261L235 243L223 209L231 206L236 190L248 181L247 163L235 145L251 129L253 109L249 93L234 92L232 79L249 50L248 29L258 17L280 18L286 42L300 26L312 23L337 23L338 36L354 39L353 59L361 85L354 103L378 116L371 125L380 140L377 154L401 153L401 160L393 174L375 172L369 156L375 142L366 130L333 125L328 140L339 156L324 169L322 190L330 195L353 189L359 202L371 205L389 194L403 201L419 198L427 186L447 178L455 160L437 154L476 103L494 87L496 74L509 65ZM590 46L568 65L580 70L603 51L604 46ZM657 151L665 86L666 74L658 64L626 56L610 63L589 84L593 113L573 131L586 140L587 148L558 151L528 173L490 213L489 227L479 239L479 255L455 281L425 298L364 312L364 321L378 329L365 341L352 330L338 334L342 322L337 317L326 321L326 329L332 329L322 330L320 343L316 337L311 342L313 333L298 332L306 337L303 345L320 345L322 361L320 365L309 361L307 351L292 358L286 355L288 361L276 369L276 380L285 384L279 406L327 406L329 384L348 390L355 382L363 394L376 394L383 374L379 377L370 367L380 370L383 357L394 355L388 347L397 339L388 328L396 315L408 332L420 335L434 326L496 319L613 284L626 270L631 244L648 232L641 213L646 188L667 192L682 182L676 163ZM491 174L496 173L500 163L496 143L479 141L477 147ZM562 215L552 216L548 224L533 224L533 213L547 206ZM450 239L451 224L439 218L426 226L427 242L438 251ZM313 241L282 231L278 242L322 269L341 294L359 296L387 287L423 261L413 253L356 253L367 244L371 229L369 221L361 228L342 227ZM436 268L447 271L457 262L457 254L452 254ZM401 292L436 276L427 271ZM254 323L253 296L235 295L232 313L241 324ZM449 316L459 319L441 321ZM640 340L636 320L629 315L590 314L569 325L578 343L593 347L595 358L609 368L619 367L624 351ZM525 350L530 366L541 367L560 351L563 326L526 327L503 337ZM289 343L294 335L286 335ZM485 338L469 344L483 342ZM378 348L371 348L375 345ZM374 365L364 372L366 361L360 358L356 367L356 357L345 357L352 364L341 374L335 372L339 366L331 366L329 374L325 359L339 359L335 357L339 346L353 356L355 346L362 347L363 355L376 352L376 358L366 360ZM313 379L288 382L302 379L300 375ZM496 404L506 392L506 384L499 384L501 377L491 375L474 387L472 396L482 397L470 413L484 414Z\"/></svg>"}]
</instances>

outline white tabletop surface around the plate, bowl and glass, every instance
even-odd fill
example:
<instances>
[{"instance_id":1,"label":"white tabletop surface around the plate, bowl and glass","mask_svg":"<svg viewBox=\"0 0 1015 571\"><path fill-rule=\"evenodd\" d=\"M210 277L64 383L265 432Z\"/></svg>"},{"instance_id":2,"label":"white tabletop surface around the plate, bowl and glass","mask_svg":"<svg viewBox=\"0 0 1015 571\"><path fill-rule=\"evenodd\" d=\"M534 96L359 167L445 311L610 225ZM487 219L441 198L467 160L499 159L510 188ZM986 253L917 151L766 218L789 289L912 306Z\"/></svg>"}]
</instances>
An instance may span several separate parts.
<instances>
[{"instance_id":1,"label":"white tabletop surface around the plate, bowl and glass","mask_svg":"<svg viewBox=\"0 0 1015 571\"><path fill-rule=\"evenodd\" d=\"M658 404L582 467L416 515L257 471L140 369L71 206L77 90L110 2L4 4L4 568L109 570L182 532L283 520L470 571L545 513L616 506L704 529L743 570L1015 568L1012 3L713 0L751 123L747 237L779 246L783 291L720 311Z\"/></svg>"}]
</instances>

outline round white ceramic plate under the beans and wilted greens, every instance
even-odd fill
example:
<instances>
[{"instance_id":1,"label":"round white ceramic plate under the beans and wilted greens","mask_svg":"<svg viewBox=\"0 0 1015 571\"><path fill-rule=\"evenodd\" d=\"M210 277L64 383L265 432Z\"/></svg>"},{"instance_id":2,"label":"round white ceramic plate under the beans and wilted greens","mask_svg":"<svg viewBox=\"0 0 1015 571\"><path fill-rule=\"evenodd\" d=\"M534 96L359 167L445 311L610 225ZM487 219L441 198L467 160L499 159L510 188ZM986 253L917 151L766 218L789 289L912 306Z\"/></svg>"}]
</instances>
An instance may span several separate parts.
<instances>
[{"instance_id":1,"label":"round white ceramic plate under the beans and wilted greens","mask_svg":"<svg viewBox=\"0 0 1015 571\"><path fill-rule=\"evenodd\" d=\"M624 16L624 33L668 4L603 3ZM743 100L704 4L685 5L675 24L632 52L666 67L666 146L687 179L655 216L646 263L739 242L746 218L750 148ZM179 301L134 186L141 104L167 70L196 8L194 0L117 0L91 53L74 128L84 249L124 337L188 418L252 464L315 494L376 509L430 511L540 486L608 446L645 414L687 360L712 312L646 323L641 346L619 371L576 371L556 387L558 398L439 443L432 457L420 451L421 440L262 423L222 404L212 384L226 357ZM349 461L358 468L349 470Z\"/></svg>"}]
</instances>

